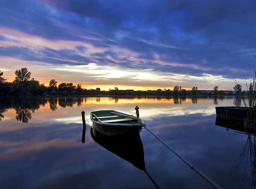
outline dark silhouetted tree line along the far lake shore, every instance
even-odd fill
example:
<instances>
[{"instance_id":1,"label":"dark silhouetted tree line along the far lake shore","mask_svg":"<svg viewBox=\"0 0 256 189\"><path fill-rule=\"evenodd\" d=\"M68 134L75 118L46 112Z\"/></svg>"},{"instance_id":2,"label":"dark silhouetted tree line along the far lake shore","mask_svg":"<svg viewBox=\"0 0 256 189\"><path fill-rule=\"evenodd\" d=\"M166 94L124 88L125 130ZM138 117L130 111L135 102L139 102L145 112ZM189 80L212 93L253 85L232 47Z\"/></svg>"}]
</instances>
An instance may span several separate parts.
<instances>
[{"instance_id":1,"label":"dark silhouetted tree line along the far lake shore","mask_svg":"<svg viewBox=\"0 0 256 189\"><path fill-rule=\"evenodd\" d=\"M39 81L31 78L31 72L28 68L21 68L14 72L15 79L13 82L6 82L4 78L4 72L0 70L0 96L41 96L41 95L97 95L97 94L113 94L113 95L199 95L198 88L193 86L191 91L186 91L182 86L174 86L173 90L157 90L156 93L152 91L130 91L130 90L118 90L117 87L114 90L100 91L100 88L96 89L83 89L82 84L73 83L61 83L57 87L57 81L55 79L50 80L49 86L40 84ZM200 93L201 95L227 95L226 91L218 91L219 87L213 87L213 92ZM237 95L242 94L242 86L236 84L234 91ZM228 95L232 94L231 92Z\"/></svg>"}]
</instances>

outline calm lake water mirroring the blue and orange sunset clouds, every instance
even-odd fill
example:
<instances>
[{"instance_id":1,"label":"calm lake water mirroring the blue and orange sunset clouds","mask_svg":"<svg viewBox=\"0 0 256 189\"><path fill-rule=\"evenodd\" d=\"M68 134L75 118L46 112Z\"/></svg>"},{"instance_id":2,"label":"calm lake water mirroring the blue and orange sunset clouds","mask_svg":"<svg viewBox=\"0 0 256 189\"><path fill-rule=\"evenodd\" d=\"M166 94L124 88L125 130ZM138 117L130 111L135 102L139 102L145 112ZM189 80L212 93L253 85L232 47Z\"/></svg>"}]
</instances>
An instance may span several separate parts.
<instances>
[{"instance_id":1,"label":"calm lake water mirroring the blue and orange sunset clouds","mask_svg":"<svg viewBox=\"0 0 256 189\"><path fill-rule=\"evenodd\" d=\"M103 148L90 132L91 111L135 115L136 105L148 128L223 189L255 188L250 153L241 156L248 135L215 125L215 106L239 104L233 97L0 98L0 188L156 188L144 171ZM139 137L146 170L159 188L213 188L146 129Z\"/></svg>"}]
</instances>

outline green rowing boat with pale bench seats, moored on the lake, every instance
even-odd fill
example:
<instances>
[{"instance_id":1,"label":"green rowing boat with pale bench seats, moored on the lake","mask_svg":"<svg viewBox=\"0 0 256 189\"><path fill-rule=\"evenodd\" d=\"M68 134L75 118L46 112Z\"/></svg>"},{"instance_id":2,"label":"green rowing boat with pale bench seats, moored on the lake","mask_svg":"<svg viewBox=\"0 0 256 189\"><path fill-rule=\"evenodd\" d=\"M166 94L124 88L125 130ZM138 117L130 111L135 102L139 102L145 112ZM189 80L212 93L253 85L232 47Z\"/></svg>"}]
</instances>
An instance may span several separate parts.
<instances>
[{"instance_id":1,"label":"green rowing boat with pale bench seats, moored on the lake","mask_svg":"<svg viewBox=\"0 0 256 189\"><path fill-rule=\"evenodd\" d=\"M140 118L115 110L94 111L90 118L93 126L105 135L129 133L146 126Z\"/></svg>"}]
</instances>

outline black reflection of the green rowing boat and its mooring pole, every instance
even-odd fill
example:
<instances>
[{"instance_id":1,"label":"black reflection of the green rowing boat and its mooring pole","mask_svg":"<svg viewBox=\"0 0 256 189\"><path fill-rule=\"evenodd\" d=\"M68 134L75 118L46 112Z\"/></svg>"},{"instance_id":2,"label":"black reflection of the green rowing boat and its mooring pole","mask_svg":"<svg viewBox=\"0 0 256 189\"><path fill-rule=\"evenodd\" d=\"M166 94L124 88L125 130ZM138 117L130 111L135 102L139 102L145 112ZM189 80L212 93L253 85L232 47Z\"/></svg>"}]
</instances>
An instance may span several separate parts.
<instances>
[{"instance_id":1,"label":"black reflection of the green rowing boat and its mooring pole","mask_svg":"<svg viewBox=\"0 0 256 189\"><path fill-rule=\"evenodd\" d=\"M91 127L92 139L100 144L103 148L109 150L116 156L128 161L133 166L144 171L152 183L159 188L155 181L146 171L144 161L144 149L140 139L140 131L134 130L130 133L118 134L118 135L105 135L98 131L94 125Z\"/></svg>"}]
</instances>

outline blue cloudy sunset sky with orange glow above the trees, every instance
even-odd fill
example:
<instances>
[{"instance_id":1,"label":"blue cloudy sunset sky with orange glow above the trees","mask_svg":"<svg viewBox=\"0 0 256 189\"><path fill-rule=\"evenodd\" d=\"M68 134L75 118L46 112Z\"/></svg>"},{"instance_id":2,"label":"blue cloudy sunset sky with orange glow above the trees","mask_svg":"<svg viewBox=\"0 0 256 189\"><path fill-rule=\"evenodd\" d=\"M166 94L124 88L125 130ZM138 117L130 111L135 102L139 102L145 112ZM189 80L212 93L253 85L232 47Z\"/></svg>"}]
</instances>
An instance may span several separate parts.
<instances>
[{"instance_id":1,"label":"blue cloudy sunset sky with orange glow above the trees","mask_svg":"<svg viewBox=\"0 0 256 189\"><path fill-rule=\"evenodd\" d=\"M2 0L0 70L86 89L246 90L255 18L254 0Z\"/></svg>"}]
</instances>

